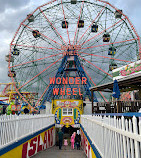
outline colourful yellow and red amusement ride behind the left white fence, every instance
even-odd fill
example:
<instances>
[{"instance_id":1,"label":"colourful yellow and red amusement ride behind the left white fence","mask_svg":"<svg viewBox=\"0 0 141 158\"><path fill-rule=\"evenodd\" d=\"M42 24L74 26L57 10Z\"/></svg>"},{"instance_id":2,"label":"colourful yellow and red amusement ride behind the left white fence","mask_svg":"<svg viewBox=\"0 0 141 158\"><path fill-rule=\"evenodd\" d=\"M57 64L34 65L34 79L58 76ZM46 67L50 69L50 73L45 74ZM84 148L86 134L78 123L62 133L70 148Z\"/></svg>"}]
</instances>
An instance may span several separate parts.
<instances>
[{"instance_id":1,"label":"colourful yellow and red amusement ride behind the left white fence","mask_svg":"<svg viewBox=\"0 0 141 158\"><path fill-rule=\"evenodd\" d=\"M1 87L1 104L5 106L2 108L0 114L3 112L3 109L6 108L7 114L20 114L25 113L25 111L29 110L29 113L32 113L31 109L28 107L28 104L25 104L25 102L22 102L19 97L18 93L15 91L13 83L0 83ZM28 99L29 102L32 102L34 104L33 100L34 97L37 95L35 93L29 93L29 92L21 92L21 94Z\"/></svg>"}]
</instances>

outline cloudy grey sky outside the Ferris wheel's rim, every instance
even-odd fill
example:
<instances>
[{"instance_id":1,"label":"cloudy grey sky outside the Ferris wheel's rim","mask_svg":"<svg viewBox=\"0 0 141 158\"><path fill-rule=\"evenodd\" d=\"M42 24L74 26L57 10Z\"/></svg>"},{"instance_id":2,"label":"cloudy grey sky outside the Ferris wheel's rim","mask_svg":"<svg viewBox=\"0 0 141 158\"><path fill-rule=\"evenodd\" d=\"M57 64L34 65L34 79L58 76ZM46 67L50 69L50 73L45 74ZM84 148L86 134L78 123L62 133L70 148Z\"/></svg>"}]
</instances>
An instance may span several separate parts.
<instances>
[{"instance_id":1,"label":"cloudy grey sky outside the Ferris wheel's rim","mask_svg":"<svg viewBox=\"0 0 141 158\"><path fill-rule=\"evenodd\" d=\"M11 42L20 22L27 14L49 0L0 0L0 83L8 83L8 63L5 55L9 53ZM141 36L141 0L109 0L115 7L122 9L129 17Z\"/></svg>"}]
</instances>

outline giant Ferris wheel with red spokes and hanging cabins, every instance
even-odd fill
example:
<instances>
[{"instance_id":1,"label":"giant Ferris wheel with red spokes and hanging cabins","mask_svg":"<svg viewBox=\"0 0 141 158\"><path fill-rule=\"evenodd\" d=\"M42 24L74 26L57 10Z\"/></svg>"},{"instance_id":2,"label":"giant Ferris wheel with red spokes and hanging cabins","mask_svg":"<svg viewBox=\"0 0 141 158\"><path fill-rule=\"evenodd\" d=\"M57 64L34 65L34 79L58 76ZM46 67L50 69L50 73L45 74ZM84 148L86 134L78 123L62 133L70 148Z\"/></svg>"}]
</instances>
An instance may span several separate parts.
<instances>
[{"instance_id":1,"label":"giant Ferris wheel with red spokes and hanging cabins","mask_svg":"<svg viewBox=\"0 0 141 158\"><path fill-rule=\"evenodd\" d=\"M10 44L8 75L20 97L27 101L20 92L36 93L38 105L66 52L76 53L90 85L96 86L112 81L113 69L140 59L141 45L124 11L108 2L50 1L27 15ZM107 100L101 92L95 95Z\"/></svg>"}]
</instances>

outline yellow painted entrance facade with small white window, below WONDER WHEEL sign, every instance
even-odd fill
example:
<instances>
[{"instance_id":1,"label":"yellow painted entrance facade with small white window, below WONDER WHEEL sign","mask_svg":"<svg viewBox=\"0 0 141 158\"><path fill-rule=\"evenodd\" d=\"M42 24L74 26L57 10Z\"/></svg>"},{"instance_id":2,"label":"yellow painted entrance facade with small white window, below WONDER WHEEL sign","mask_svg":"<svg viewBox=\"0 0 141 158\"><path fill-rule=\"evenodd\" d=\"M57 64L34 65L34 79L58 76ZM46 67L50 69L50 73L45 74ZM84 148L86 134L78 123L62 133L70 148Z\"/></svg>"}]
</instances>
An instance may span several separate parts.
<instances>
[{"instance_id":1,"label":"yellow painted entrance facade with small white window, below WONDER WHEEL sign","mask_svg":"<svg viewBox=\"0 0 141 158\"><path fill-rule=\"evenodd\" d=\"M83 114L83 100L52 100L52 113L55 115L57 127L79 127L80 115Z\"/></svg>"}]
</instances>

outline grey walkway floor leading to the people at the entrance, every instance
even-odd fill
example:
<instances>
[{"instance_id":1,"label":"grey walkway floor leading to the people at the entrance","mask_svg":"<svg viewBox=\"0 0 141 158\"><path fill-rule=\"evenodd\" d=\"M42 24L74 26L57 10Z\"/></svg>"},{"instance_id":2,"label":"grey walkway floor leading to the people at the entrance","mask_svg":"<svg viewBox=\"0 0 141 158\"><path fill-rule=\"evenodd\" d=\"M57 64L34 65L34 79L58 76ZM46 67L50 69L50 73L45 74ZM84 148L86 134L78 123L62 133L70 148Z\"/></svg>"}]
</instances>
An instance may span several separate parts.
<instances>
[{"instance_id":1,"label":"grey walkway floor leading to the people at the entrance","mask_svg":"<svg viewBox=\"0 0 141 158\"><path fill-rule=\"evenodd\" d=\"M50 149L39 152L33 158L86 158L83 150L72 150L70 146L62 148L59 150L59 147L52 147Z\"/></svg>"}]
</instances>

